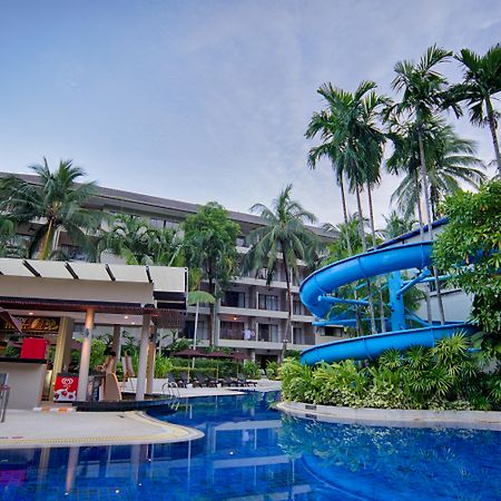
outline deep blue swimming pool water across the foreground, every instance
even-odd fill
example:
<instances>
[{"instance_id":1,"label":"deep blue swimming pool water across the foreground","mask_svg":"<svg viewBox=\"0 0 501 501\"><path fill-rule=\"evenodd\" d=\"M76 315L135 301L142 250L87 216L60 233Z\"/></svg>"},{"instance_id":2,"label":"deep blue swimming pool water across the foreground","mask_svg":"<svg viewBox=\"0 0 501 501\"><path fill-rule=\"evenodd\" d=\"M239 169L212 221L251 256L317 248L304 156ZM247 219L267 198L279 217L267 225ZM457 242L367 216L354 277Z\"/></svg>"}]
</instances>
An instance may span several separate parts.
<instances>
[{"instance_id":1,"label":"deep blue swimming pool water across the foreground","mask_svg":"<svg viewBox=\"0 0 501 501\"><path fill-rule=\"evenodd\" d=\"M1 500L495 500L501 432L298 420L277 394L184 400L178 444L0 451Z\"/></svg>"}]
</instances>

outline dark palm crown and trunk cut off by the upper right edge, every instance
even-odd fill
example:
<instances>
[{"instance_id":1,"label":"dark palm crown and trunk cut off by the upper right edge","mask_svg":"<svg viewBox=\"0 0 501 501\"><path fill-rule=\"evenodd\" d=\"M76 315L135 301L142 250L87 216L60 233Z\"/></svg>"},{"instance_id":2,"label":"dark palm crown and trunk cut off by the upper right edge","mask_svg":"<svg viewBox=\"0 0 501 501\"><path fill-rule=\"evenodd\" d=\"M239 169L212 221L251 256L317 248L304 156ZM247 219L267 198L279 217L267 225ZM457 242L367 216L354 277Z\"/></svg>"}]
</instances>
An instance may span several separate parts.
<instances>
[{"instance_id":1,"label":"dark palm crown and trunk cut off by the upper right edge","mask_svg":"<svg viewBox=\"0 0 501 501\"><path fill-rule=\"evenodd\" d=\"M451 88L451 101L466 101L470 121L481 127L489 125L498 173L501 176L501 158L495 131L499 112L492 106L494 95L501 91L501 45L491 47L483 56L462 49L455 58L463 65L464 75L462 84Z\"/></svg>"}]
</instances>

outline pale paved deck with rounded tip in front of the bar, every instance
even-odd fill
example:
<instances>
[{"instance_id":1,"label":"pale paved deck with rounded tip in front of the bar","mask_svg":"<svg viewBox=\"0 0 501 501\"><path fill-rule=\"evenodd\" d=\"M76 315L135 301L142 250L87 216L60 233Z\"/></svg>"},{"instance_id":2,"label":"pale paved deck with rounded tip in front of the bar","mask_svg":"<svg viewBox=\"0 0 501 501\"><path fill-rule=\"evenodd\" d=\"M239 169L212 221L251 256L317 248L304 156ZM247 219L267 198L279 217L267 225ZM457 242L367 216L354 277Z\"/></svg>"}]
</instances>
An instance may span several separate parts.
<instances>
[{"instance_id":1,"label":"pale paved deck with rounded tip in front of the bar","mask_svg":"<svg viewBox=\"0 0 501 501\"><path fill-rule=\"evenodd\" d=\"M184 442L198 430L137 412L33 412L8 410L0 423L0 449Z\"/></svg>"}]
</instances>

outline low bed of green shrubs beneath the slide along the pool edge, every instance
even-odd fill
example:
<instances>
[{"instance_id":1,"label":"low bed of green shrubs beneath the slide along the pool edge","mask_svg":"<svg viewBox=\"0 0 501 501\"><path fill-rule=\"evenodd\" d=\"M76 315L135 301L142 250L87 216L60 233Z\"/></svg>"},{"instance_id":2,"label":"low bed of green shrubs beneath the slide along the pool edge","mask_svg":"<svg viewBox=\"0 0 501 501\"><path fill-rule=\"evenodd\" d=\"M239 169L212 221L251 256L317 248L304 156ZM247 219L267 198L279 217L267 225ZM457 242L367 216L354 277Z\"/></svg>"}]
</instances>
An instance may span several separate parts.
<instances>
[{"instance_id":1,"label":"low bed of green shrubs beneath the slide along the pool edge","mask_svg":"<svg viewBox=\"0 0 501 501\"><path fill-rule=\"evenodd\" d=\"M390 350L364 366L346 360L315 367L287 360L281 367L285 400L379 409L500 409L500 374L480 371L461 334L432 348Z\"/></svg>"}]
</instances>

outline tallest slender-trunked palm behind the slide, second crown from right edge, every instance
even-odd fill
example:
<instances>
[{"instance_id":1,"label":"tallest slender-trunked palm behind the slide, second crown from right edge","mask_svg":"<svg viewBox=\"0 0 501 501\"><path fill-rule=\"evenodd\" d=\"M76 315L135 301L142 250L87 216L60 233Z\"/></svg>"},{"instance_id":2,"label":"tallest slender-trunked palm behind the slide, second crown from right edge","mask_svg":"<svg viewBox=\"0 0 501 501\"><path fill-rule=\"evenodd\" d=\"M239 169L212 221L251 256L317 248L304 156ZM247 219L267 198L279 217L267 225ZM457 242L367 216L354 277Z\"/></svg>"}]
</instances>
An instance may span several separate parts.
<instances>
[{"instance_id":1,"label":"tallest slender-trunked palm behind the slide, second crown from right edge","mask_svg":"<svg viewBox=\"0 0 501 501\"><path fill-rule=\"evenodd\" d=\"M399 61L394 68L396 76L392 81L393 89L403 94L401 102L394 106L396 114L406 115L415 124L424 209L431 239L433 239L432 213L424 150L424 128L436 110L444 106L444 92L446 91L448 80L443 75L436 71L436 67L438 65L448 61L451 56L452 52L432 46L418 63L412 61ZM454 104L451 104L451 106L458 112L459 107ZM443 310L439 272L436 267L433 267L433 272L435 275L440 321L444 324L445 313Z\"/></svg>"}]
</instances>

